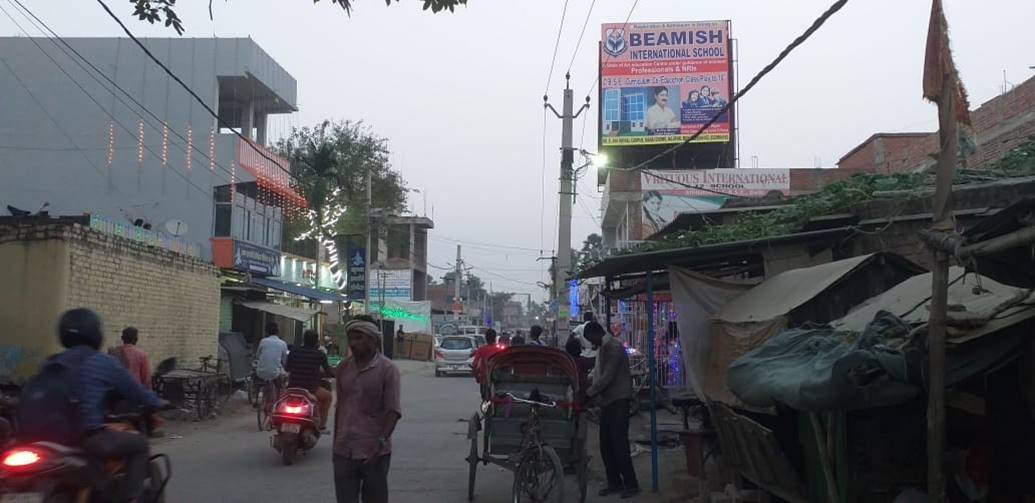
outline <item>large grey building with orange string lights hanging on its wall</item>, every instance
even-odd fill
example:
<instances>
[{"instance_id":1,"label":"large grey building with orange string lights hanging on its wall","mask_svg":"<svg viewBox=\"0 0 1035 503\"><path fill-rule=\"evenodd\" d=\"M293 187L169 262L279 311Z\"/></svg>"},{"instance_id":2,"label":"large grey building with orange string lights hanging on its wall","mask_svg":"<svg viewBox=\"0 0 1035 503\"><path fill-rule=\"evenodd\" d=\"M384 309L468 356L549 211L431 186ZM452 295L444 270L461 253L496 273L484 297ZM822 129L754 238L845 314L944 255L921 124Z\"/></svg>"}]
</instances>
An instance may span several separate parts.
<instances>
[{"instance_id":1,"label":"large grey building with orange string lights hanging on its wall","mask_svg":"<svg viewBox=\"0 0 1035 503\"><path fill-rule=\"evenodd\" d=\"M205 260L213 236L279 247L300 198L263 145L268 117L297 110L287 70L249 38L142 39L244 142L131 40L67 41L102 75L52 39L0 38L0 203L137 221Z\"/></svg>"}]
</instances>

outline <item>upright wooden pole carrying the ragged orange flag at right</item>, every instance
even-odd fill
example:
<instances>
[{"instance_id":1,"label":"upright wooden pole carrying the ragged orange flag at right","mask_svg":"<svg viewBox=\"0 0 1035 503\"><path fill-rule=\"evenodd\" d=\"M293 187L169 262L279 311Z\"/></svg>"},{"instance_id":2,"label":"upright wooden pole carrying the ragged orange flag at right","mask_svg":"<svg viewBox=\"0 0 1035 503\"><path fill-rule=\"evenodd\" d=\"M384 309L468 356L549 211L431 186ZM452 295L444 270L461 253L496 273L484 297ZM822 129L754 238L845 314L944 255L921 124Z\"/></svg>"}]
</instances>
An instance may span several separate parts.
<instances>
[{"instance_id":1,"label":"upright wooden pole carrying the ragged orange flag at right","mask_svg":"<svg viewBox=\"0 0 1035 503\"><path fill-rule=\"evenodd\" d=\"M947 42L948 40L946 40ZM934 225L936 231L952 232L952 177L956 169L955 96L956 76L944 77L938 103L938 132L941 150L935 178ZM930 320L927 324L927 497L931 503L945 501L942 462L945 451L945 324L949 291L949 256L931 250Z\"/></svg>"}]
</instances>

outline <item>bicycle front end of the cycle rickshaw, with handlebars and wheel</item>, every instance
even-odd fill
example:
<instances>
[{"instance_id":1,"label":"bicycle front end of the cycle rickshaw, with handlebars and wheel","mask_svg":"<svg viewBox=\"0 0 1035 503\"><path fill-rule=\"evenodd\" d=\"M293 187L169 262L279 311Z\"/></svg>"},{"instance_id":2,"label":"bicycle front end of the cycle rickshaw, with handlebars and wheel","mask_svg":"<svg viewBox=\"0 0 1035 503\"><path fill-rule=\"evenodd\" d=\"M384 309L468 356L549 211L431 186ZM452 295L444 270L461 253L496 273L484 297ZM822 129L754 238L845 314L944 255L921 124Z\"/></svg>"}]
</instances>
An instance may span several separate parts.
<instances>
[{"instance_id":1,"label":"bicycle front end of the cycle rickshaw, with handlebars and wheel","mask_svg":"<svg viewBox=\"0 0 1035 503\"><path fill-rule=\"evenodd\" d=\"M540 438L539 409L556 408L557 403L539 400L538 389L533 389L528 398L512 393L505 393L504 396L510 402L530 406L528 420L522 426L522 448L516 454L511 492L513 503L564 501L564 467L561 457Z\"/></svg>"}]
</instances>

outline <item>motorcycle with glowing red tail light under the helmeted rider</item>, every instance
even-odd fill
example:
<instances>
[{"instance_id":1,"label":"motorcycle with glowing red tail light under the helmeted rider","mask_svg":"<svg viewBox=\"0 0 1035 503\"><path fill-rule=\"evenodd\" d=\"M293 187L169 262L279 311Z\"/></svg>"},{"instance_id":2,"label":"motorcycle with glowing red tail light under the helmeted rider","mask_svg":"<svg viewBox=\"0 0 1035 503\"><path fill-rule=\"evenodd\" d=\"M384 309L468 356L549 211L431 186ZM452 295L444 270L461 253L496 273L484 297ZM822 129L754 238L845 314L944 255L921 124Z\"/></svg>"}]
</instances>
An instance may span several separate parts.
<instances>
[{"instance_id":1,"label":"motorcycle with glowing red tail light under the helmeted rider","mask_svg":"<svg viewBox=\"0 0 1035 503\"><path fill-rule=\"evenodd\" d=\"M109 427L150 436L156 420L143 411L108 416ZM102 462L54 442L13 443L0 453L0 503L116 501L125 462ZM166 454L150 457L143 502L165 502L172 465Z\"/></svg>"}]
</instances>

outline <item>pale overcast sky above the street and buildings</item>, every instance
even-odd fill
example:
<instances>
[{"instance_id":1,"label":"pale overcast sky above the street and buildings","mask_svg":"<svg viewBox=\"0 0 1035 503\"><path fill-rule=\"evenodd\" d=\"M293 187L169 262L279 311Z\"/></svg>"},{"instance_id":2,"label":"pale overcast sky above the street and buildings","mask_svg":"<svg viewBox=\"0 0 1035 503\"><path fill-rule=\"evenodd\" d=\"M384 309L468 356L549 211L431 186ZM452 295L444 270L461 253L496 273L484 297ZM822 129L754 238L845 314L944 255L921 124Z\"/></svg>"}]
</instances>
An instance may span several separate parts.
<instances>
[{"instance_id":1,"label":"pale overcast sky above the street and buildings","mask_svg":"<svg viewBox=\"0 0 1035 503\"><path fill-rule=\"evenodd\" d=\"M432 264L450 264L461 240L465 261L496 290L541 298L535 283L545 272L536 257L540 247L550 255L556 246L560 143L559 123L551 118L543 176L541 103L564 2L470 0L455 13L433 16L418 0L391 7L356 1L351 18L329 0L214 0L214 21L204 0L181 0L178 10L187 27L183 36L250 36L297 79L300 111L271 120L272 135L333 118L363 120L390 139L395 168L424 191L430 216L434 208ZM591 1L568 1L550 88L558 105ZM95 2L25 3L62 35L121 35ZM599 25L623 22L632 3L596 1L571 66L576 102L596 75ZM630 21L732 20L744 84L829 3L640 0ZM973 107L1002 91L1004 71L1010 84L1035 75L1029 68L1035 65L1035 1L945 3ZM128 2L109 4L129 19ZM740 101L743 165L757 155L769 168L810 167L817 159L832 166L873 132L933 130L935 108L920 99L929 8L927 0L850 1ZM129 26L140 36L176 36L140 22ZM6 18L0 33L21 34ZM590 150L596 105L584 140ZM581 134L579 122L576 145ZM579 189L574 247L599 232L595 174ZM412 195L411 208L422 213L423 201Z\"/></svg>"}]
</instances>

